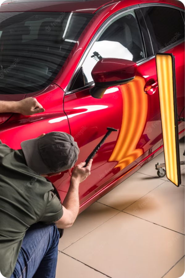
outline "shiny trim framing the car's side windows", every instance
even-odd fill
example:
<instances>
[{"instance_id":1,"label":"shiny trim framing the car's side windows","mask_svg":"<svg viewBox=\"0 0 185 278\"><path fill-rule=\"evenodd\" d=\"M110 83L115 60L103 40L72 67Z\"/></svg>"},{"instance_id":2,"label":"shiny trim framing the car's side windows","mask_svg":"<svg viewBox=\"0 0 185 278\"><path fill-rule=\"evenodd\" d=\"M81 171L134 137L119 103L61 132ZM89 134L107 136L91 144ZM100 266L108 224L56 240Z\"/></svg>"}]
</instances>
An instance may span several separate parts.
<instances>
[{"instance_id":1,"label":"shiny trim framing the car's side windows","mask_svg":"<svg viewBox=\"0 0 185 278\"><path fill-rule=\"evenodd\" d=\"M123 15L125 14L126 12L128 11L132 11L132 10L136 10L136 9L139 9L142 11L142 8L143 7L151 7L151 6L161 6L161 7L168 7L168 8L172 8L172 9L176 9L176 10L179 10L180 12L185 12L185 9L183 8L180 8L180 7L177 7L175 5L172 5L172 4L163 4L163 3L143 3L143 4L138 4L138 5L134 5L134 6L130 6L130 7L127 7L127 8L124 8L122 10L119 10L117 11L115 14L111 15L105 22L103 22L103 24L100 26L100 28L98 29L97 33L94 35L94 37L92 38L91 42L89 43L87 49L85 50L82 58L80 59L80 62L78 64L78 66L76 67L76 70L75 72L73 73L72 75L72 78L66 88L66 91L65 91L65 95L71 95L73 93L76 93L78 91L82 91L82 90L85 90L87 88L91 88L94 86L94 83L91 82L89 84L87 84L86 86L82 87L82 88L79 88L79 89L76 89L74 91L70 91L70 87L72 86L72 83L76 77L76 74L78 74L85 58L87 57L92 45L94 44L94 42L97 40L98 36L102 33L103 29L109 24L111 23L114 19L116 19L117 17L119 17L120 15ZM181 13L181 16L182 16L182 13ZM184 20L183 20L184 21ZM139 27L140 27L140 23L138 21L138 24L139 24ZM147 27L147 26L146 26ZM140 27L140 30L141 30L141 27ZM149 32L149 31L148 31ZM149 33L149 36L150 36L150 33ZM150 41L151 41L151 37L150 37ZM172 47L175 47L179 44L181 44L182 42L185 41L185 38L184 39L181 39L180 41L178 42L174 42L173 44L171 44L170 46L167 46L166 48L162 49L160 52L165 52L167 51L168 49L171 49ZM145 46L144 46L145 47ZM152 46L153 47L153 46ZM148 58L145 58L143 59L141 62L138 62L138 66L152 60L155 58L155 54L151 57L148 57Z\"/></svg>"}]
</instances>

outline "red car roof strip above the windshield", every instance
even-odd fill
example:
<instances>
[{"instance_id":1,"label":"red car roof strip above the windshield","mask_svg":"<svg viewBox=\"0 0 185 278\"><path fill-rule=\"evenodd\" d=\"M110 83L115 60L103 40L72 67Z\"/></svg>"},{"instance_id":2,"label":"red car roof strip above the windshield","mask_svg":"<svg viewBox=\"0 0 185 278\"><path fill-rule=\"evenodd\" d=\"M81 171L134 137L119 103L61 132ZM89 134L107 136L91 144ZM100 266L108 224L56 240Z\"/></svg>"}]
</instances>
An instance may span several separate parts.
<instances>
[{"instance_id":1,"label":"red car roof strip above the windshield","mask_svg":"<svg viewBox=\"0 0 185 278\"><path fill-rule=\"evenodd\" d=\"M0 12L6 11L63 11L94 13L108 3L119 0L19 0L1 4Z\"/></svg>"}]
</instances>

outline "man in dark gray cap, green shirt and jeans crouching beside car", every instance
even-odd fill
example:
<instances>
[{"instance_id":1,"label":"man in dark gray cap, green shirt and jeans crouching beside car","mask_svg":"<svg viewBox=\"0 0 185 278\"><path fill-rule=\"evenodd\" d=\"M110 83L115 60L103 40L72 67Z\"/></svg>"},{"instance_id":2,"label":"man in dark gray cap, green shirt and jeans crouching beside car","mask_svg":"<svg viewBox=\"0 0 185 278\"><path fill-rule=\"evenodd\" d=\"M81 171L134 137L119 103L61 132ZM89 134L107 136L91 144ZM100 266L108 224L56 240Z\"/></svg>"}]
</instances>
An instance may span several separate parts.
<instances>
[{"instance_id":1,"label":"man in dark gray cap, green shirt and jeans crouching beside car","mask_svg":"<svg viewBox=\"0 0 185 278\"><path fill-rule=\"evenodd\" d=\"M0 141L0 272L6 278L54 278L58 228L71 227L79 212L79 184L92 159L74 168L63 204L46 176L74 166L79 148L71 135L51 132L13 150Z\"/></svg>"}]
</instances>

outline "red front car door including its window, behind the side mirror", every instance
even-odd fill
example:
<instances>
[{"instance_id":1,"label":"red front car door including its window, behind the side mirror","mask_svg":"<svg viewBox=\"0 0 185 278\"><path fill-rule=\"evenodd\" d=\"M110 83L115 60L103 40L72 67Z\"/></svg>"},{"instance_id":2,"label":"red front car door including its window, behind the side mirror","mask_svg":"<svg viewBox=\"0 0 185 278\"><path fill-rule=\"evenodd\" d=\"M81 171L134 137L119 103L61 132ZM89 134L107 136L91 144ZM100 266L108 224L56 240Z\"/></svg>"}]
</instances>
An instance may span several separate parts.
<instances>
[{"instance_id":1,"label":"red front car door including its window, behind the side mirror","mask_svg":"<svg viewBox=\"0 0 185 278\"><path fill-rule=\"evenodd\" d=\"M105 22L106 27L101 27L98 38L84 53L86 58L73 79L71 91L64 97L71 134L80 147L77 163L88 157L107 127L118 130L112 132L95 155L91 178L80 185L81 203L134 167L149 151L151 153L152 147L161 144L156 132L158 127L150 127L160 120L158 93L153 94L157 87L150 90L149 95L144 92L146 83L154 84L157 79L156 70L150 66L150 55L154 54L151 45L148 49L148 42L147 49L144 46L149 35L140 29L137 12L120 13L108 25ZM102 99L94 99L89 92L93 86L91 71L101 58L138 62L138 73L132 82L108 88Z\"/></svg>"}]
</instances>

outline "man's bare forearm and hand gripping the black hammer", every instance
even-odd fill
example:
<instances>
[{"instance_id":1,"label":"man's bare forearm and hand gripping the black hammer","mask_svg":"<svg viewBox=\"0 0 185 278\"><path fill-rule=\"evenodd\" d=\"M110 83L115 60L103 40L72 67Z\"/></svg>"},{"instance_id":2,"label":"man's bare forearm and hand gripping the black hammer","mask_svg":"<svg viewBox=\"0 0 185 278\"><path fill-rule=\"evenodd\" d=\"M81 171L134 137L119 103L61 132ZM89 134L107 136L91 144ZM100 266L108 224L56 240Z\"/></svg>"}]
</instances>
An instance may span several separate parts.
<instances>
[{"instance_id":1,"label":"man's bare forearm and hand gripping the black hammer","mask_svg":"<svg viewBox=\"0 0 185 278\"><path fill-rule=\"evenodd\" d=\"M60 229L71 227L78 216L80 207L79 184L90 175L92 159L89 161L87 167L83 168L84 165L85 162L82 162L72 171L69 190L62 204L63 216L55 223Z\"/></svg>"}]
</instances>

